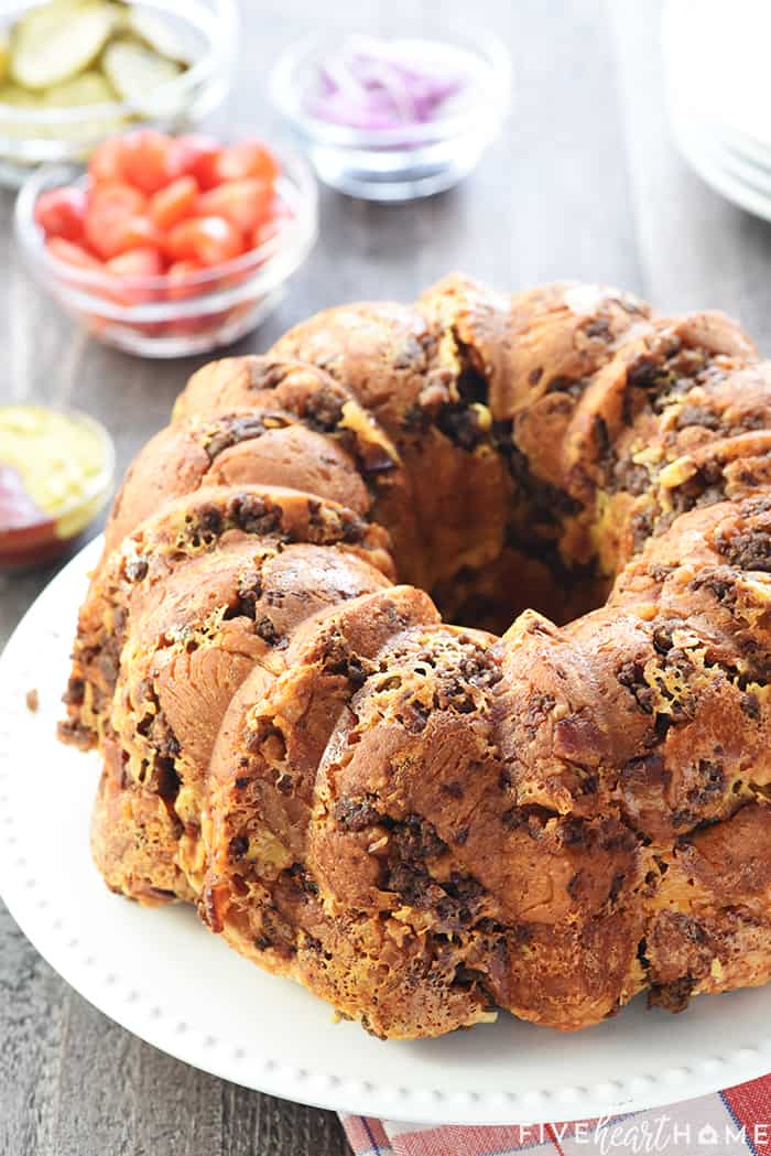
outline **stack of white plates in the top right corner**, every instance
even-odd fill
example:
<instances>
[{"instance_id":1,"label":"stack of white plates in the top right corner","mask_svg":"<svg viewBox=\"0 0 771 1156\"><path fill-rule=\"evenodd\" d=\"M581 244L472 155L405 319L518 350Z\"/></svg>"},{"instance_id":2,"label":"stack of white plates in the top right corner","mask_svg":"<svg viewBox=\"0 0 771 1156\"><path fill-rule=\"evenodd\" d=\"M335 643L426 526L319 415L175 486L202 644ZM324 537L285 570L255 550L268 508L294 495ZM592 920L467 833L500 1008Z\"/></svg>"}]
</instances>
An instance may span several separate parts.
<instances>
[{"instance_id":1,"label":"stack of white plates in the top right corner","mask_svg":"<svg viewBox=\"0 0 771 1156\"><path fill-rule=\"evenodd\" d=\"M675 140L717 192L771 221L771 0L669 0Z\"/></svg>"}]
</instances>

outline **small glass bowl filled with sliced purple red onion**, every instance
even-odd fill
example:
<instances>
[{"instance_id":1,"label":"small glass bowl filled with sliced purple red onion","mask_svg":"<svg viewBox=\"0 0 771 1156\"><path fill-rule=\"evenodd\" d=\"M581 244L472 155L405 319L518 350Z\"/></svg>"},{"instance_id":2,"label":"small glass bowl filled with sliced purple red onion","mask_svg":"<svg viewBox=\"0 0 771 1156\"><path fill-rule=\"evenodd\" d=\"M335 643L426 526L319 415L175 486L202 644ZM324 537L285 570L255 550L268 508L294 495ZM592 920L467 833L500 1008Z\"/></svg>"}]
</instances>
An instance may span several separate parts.
<instances>
[{"instance_id":1,"label":"small glass bowl filled with sliced purple red onion","mask_svg":"<svg viewBox=\"0 0 771 1156\"><path fill-rule=\"evenodd\" d=\"M327 31L292 44L270 77L319 178L376 201L461 180L498 135L511 88L504 45L469 29L436 38Z\"/></svg>"}]
</instances>

